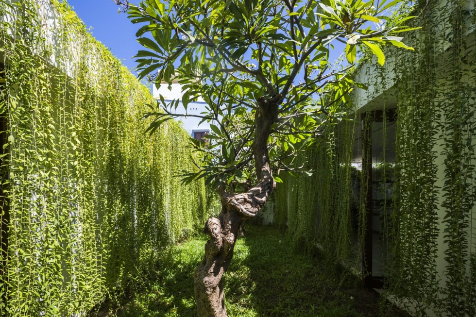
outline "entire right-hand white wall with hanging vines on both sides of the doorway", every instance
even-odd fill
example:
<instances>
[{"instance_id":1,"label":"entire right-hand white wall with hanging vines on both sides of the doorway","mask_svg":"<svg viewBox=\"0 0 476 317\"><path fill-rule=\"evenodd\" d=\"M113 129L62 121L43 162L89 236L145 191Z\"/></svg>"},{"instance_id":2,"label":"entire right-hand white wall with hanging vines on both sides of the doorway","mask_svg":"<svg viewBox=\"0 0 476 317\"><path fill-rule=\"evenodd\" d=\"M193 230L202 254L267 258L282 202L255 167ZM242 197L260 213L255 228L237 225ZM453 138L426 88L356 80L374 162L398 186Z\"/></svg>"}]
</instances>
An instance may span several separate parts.
<instances>
[{"instance_id":1,"label":"entire right-hand white wall with hanging vines on both sides of the doorway","mask_svg":"<svg viewBox=\"0 0 476 317\"><path fill-rule=\"evenodd\" d=\"M475 316L475 4L422 0L411 8L408 14L418 16L412 23L422 29L402 35L415 51L385 48L384 67L368 61L357 71L370 87L357 100L363 106L357 117L376 109L397 115L394 158L389 162L390 153L374 153L389 162L379 167L378 177L393 193L379 207L387 294L415 316ZM388 142L390 124L380 123L380 142ZM349 151L360 130L340 124L328 131L300 158L315 168L314 175L278 184L274 210L274 222L288 226L298 241L354 263L366 221L365 206L356 217L349 203L357 180ZM374 162L373 173L376 167ZM362 182L365 177L358 175ZM360 201L366 194L360 191Z\"/></svg>"}]
</instances>

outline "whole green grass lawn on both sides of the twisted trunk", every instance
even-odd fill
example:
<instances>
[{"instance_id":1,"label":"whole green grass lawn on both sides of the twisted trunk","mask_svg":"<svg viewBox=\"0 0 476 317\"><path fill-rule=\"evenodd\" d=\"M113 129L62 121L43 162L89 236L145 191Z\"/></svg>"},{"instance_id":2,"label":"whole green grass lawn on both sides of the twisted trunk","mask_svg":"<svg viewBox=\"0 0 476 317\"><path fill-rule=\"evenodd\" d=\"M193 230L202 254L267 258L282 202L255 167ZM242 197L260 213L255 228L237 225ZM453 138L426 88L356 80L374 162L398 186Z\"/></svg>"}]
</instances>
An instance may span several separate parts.
<instances>
[{"instance_id":1,"label":"whole green grass lawn on both sides of the twisted trunk","mask_svg":"<svg viewBox=\"0 0 476 317\"><path fill-rule=\"evenodd\" d=\"M196 316L193 271L202 260L205 235L173 246L159 261L156 280L97 316ZM224 275L230 317L408 316L380 305L360 280L319 258L295 251L292 241L272 227L247 226Z\"/></svg>"}]
</instances>

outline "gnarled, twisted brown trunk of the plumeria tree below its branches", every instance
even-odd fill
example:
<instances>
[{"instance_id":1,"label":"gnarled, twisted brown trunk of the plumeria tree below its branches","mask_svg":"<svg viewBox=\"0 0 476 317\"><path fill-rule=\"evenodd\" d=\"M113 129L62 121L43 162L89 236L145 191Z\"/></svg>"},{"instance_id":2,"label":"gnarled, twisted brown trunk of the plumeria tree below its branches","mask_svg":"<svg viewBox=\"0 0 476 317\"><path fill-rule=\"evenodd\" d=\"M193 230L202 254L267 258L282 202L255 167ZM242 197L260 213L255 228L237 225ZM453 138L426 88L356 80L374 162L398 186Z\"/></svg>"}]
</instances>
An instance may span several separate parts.
<instances>
[{"instance_id":1,"label":"gnarled, twisted brown trunk of the plumeria tree below its branches","mask_svg":"<svg viewBox=\"0 0 476 317\"><path fill-rule=\"evenodd\" d=\"M221 278L228 269L242 221L255 217L276 187L272 178L268 152L268 137L272 123L277 119L280 96L274 100L258 100L255 115L253 154L258 183L245 193L226 192L221 184L221 213L208 218L204 233L210 236L205 244L204 260L194 272L195 299L201 317L227 317Z\"/></svg>"}]
</instances>

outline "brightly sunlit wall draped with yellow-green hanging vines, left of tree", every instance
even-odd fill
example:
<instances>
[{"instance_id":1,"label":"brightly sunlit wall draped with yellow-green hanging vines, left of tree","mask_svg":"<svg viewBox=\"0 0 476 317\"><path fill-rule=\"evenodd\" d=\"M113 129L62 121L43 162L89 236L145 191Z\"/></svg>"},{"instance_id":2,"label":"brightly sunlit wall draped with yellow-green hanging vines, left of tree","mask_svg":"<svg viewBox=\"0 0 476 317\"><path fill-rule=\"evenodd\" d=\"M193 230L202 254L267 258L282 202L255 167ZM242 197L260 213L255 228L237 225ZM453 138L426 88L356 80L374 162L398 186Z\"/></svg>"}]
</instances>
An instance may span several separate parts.
<instances>
[{"instance_id":1,"label":"brightly sunlit wall draped with yellow-green hanging vines, left of tree","mask_svg":"<svg viewBox=\"0 0 476 317\"><path fill-rule=\"evenodd\" d=\"M14 2L14 3L12 3ZM0 0L1 316L79 316L207 217L188 135L66 3Z\"/></svg>"}]
</instances>

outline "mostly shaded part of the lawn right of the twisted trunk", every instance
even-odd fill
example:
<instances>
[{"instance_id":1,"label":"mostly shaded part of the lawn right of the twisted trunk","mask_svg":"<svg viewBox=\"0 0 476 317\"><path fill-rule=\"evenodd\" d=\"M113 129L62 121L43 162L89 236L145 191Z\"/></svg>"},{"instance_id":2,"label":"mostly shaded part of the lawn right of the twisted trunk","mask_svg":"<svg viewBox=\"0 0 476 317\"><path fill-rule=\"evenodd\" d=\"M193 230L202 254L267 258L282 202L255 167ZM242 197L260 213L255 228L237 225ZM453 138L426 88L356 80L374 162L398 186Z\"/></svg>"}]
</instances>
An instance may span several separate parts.
<instances>
[{"instance_id":1,"label":"mostly shaded part of the lawn right of the twisted trunk","mask_svg":"<svg viewBox=\"0 0 476 317\"><path fill-rule=\"evenodd\" d=\"M342 272L295 251L278 230L251 227L242 242L225 278L232 316L362 316L338 291Z\"/></svg>"}]
</instances>

